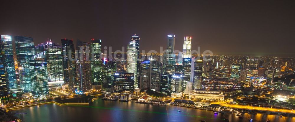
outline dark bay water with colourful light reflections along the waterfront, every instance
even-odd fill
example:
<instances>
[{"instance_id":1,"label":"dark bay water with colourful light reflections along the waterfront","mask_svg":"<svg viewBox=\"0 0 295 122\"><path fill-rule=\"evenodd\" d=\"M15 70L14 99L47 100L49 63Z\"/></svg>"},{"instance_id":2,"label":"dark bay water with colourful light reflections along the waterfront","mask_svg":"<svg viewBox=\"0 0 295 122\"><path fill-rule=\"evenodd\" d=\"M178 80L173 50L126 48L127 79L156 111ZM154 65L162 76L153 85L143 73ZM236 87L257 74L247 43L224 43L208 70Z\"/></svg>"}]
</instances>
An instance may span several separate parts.
<instances>
[{"instance_id":1,"label":"dark bay water with colourful light reflections along the waterfront","mask_svg":"<svg viewBox=\"0 0 295 122\"><path fill-rule=\"evenodd\" d=\"M178 112L180 110L181 112ZM230 122L294 122L295 117L283 117L278 115L243 114L243 119L234 114L214 114L213 111L205 111L193 108L178 107L172 105L159 106L130 102L95 100L90 105L57 105L45 104L21 108L10 112L25 112L25 115L15 115L25 122L224 122L229 118Z\"/></svg>"}]
</instances>

